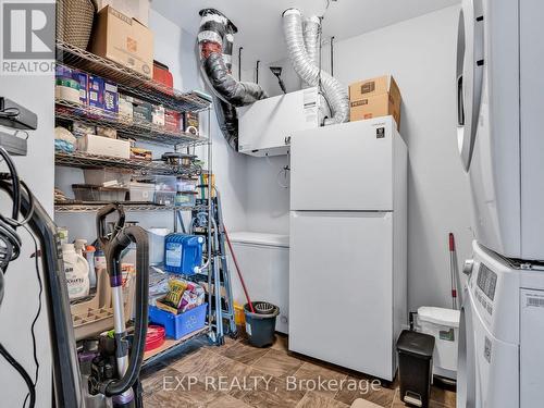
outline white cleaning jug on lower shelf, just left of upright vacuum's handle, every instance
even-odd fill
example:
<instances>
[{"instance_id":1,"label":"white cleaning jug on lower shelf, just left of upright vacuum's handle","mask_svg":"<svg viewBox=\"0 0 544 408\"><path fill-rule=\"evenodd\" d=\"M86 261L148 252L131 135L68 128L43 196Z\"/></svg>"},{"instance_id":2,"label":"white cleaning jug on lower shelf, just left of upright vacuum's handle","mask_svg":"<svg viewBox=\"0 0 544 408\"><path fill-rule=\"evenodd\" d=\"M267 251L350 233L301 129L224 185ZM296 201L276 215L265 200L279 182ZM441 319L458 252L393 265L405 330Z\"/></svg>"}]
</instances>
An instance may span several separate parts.
<instances>
[{"instance_id":1,"label":"white cleaning jug on lower shelf, just left of upright vacuum's handle","mask_svg":"<svg viewBox=\"0 0 544 408\"><path fill-rule=\"evenodd\" d=\"M74 244L62 245L62 258L70 300L88 296L89 264L87 260L75 251Z\"/></svg>"}]
</instances>

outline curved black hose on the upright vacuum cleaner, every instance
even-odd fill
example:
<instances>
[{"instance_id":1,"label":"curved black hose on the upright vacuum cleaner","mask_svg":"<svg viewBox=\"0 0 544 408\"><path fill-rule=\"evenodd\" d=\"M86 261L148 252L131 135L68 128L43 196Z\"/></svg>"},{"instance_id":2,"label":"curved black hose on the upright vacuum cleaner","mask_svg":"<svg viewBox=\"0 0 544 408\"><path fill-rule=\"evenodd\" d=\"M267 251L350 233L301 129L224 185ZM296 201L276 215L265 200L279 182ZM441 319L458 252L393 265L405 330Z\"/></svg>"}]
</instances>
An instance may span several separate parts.
<instances>
[{"instance_id":1,"label":"curved black hose on the upright vacuum cleaner","mask_svg":"<svg viewBox=\"0 0 544 408\"><path fill-rule=\"evenodd\" d=\"M139 370L144 361L144 348L146 346L147 321L148 321L148 297L149 297L149 243L148 235L140 226L128 226L114 237L108 251L110 264L120 263L119 257L123 249L131 243L136 244L136 317L134 323L134 339L131 359L125 374L120 380L102 384L103 394L107 397L120 395L131 388L138 381Z\"/></svg>"}]
</instances>

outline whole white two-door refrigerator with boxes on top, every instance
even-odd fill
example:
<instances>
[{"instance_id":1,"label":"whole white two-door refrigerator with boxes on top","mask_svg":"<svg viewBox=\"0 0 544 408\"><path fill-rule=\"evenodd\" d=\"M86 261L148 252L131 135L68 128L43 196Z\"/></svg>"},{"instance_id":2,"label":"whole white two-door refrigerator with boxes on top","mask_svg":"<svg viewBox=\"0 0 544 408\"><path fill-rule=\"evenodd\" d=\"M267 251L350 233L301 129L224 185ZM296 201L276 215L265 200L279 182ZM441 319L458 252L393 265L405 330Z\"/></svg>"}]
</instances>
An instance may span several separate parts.
<instances>
[{"instance_id":1,"label":"whole white two-door refrigerator with boxes on top","mask_svg":"<svg viewBox=\"0 0 544 408\"><path fill-rule=\"evenodd\" d=\"M289 349L392 381L407 323L407 148L392 116L292 137Z\"/></svg>"}]
</instances>

